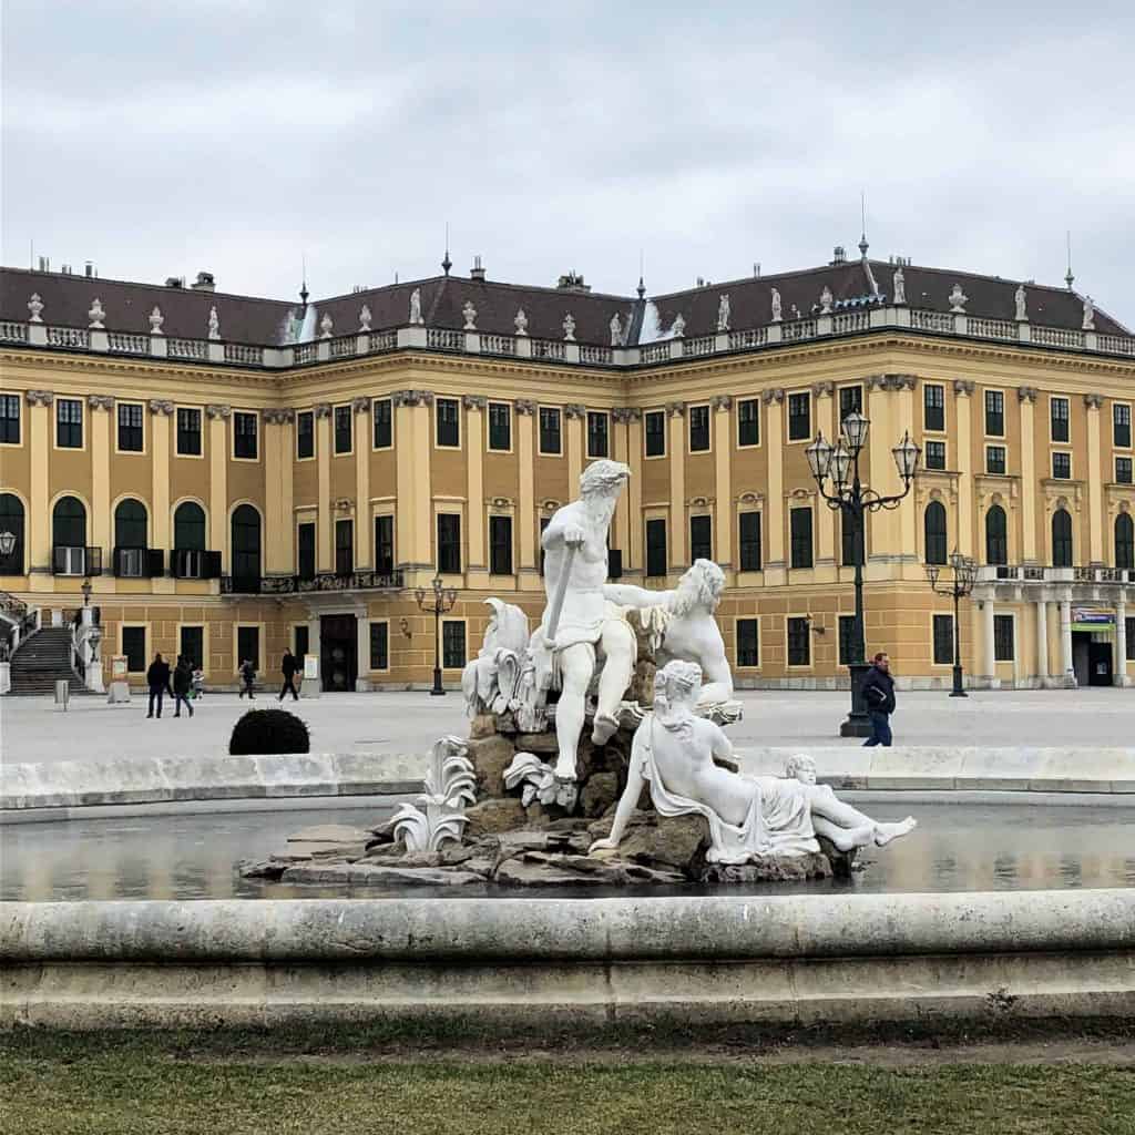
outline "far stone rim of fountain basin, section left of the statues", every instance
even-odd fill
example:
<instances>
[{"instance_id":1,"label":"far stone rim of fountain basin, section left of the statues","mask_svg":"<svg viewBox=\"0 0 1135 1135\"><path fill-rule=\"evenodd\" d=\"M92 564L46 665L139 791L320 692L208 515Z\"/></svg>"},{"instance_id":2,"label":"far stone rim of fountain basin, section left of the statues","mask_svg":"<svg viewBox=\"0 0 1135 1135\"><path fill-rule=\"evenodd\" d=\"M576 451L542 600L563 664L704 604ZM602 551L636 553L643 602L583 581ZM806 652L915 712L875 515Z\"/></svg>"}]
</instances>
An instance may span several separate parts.
<instances>
[{"instance_id":1,"label":"far stone rim of fountain basin, section left of the statues","mask_svg":"<svg viewBox=\"0 0 1135 1135\"><path fill-rule=\"evenodd\" d=\"M420 792L426 754L277 754L5 764L0 812L182 800L403 796Z\"/></svg>"}]
</instances>

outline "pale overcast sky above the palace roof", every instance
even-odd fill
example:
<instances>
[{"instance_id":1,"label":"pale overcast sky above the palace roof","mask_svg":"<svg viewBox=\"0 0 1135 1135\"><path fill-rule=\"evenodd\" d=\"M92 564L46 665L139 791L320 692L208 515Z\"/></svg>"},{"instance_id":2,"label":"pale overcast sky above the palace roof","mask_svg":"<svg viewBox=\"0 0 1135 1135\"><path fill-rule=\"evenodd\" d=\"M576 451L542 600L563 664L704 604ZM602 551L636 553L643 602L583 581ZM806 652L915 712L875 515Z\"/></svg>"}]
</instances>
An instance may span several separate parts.
<instances>
[{"instance_id":1,"label":"pale overcast sky above the palace roof","mask_svg":"<svg viewBox=\"0 0 1135 1135\"><path fill-rule=\"evenodd\" d=\"M1135 6L2 0L3 262L291 297L872 255L1135 327ZM797 15L798 14L798 15Z\"/></svg>"}]
</instances>

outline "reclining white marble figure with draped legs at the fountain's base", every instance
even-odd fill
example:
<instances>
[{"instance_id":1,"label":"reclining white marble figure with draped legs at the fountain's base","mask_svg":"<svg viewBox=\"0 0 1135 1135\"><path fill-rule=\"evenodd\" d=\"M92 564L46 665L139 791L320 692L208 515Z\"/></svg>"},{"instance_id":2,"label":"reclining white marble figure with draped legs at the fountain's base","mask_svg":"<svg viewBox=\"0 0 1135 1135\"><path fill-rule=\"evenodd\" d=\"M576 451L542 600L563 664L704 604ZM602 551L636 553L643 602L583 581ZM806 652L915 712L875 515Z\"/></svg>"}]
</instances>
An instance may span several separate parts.
<instances>
[{"instance_id":1,"label":"reclining white marble figure with draped legs at the fountain's base","mask_svg":"<svg viewBox=\"0 0 1135 1135\"><path fill-rule=\"evenodd\" d=\"M850 850L878 846L906 834L914 819L880 825L849 808L830 790L798 776L743 776L714 763L730 759L733 747L721 726L695 713L701 672L695 663L673 661L655 676L654 713L634 733L627 787L615 809L611 835L590 852L616 850L642 789L661 816L701 815L709 825L709 863L745 864L760 856L802 856L819 850L822 834ZM814 772L814 770L812 770ZM836 842L832 840L832 842Z\"/></svg>"}]
</instances>

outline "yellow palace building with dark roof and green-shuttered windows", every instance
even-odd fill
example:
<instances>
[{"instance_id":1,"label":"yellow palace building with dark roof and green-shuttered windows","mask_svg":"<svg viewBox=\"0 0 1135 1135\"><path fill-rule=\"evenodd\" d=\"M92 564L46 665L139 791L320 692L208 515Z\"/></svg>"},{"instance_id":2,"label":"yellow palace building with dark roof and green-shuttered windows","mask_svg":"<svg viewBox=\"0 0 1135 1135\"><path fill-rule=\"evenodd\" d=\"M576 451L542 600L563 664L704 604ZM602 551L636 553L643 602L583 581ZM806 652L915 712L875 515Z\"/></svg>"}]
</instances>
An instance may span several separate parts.
<instances>
[{"instance_id":1,"label":"yellow palace building with dark roof and green-shuttered windows","mask_svg":"<svg viewBox=\"0 0 1135 1135\"><path fill-rule=\"evenodd\" d=\"M632 477L613 577L722 565L742 687L847 683L854 532L809 471L871 421L868 653L943 687L953 605L924 565L980 568L973 686L1126 684L1135 658L1135 338L1071 289L859 259L672 295L445 274L327 301L68 271L0 272L0 590L42 619L91 585L102 659L155 650L232 686L286 647L326 690L456 683L489 596L543 607L541 524L588 461ZM5 533L11 539L5 540ZM3 547L8 550L3 552ZM949 574L948 570L944 573ZM1128 614L1132 612L1132 614ZM61 615L59 613L62 613Z\"/></svg>"}]
</instances>

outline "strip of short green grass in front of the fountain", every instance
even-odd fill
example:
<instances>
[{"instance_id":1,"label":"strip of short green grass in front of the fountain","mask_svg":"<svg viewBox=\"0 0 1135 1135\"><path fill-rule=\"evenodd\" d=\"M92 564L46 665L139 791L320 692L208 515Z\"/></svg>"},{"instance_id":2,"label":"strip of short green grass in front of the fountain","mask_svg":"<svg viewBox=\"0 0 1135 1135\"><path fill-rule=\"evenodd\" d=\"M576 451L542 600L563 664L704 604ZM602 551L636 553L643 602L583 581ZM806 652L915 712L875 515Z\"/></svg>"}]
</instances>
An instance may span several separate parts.
<instances>
[{"instance_id":1,"label":"strip of short green grass in front of the fountain","mask_svg":"<svg viewBox=\"0 0 1135 1135\"><path fill-rule=\"evenodd\" d=\"M928 1050L927 1062L902 1067L808 1052L794 1062L693 1054L514 1048L414 1058L412 1044L314 1051L270 1034L17 1033L0 1036L0 1132L1135 1133L1130 1063L934 1063Z\"/></svg>"}]
</instances>

